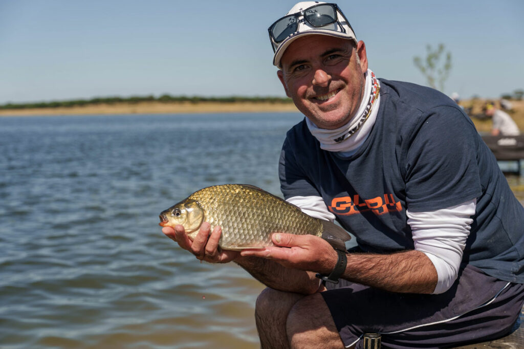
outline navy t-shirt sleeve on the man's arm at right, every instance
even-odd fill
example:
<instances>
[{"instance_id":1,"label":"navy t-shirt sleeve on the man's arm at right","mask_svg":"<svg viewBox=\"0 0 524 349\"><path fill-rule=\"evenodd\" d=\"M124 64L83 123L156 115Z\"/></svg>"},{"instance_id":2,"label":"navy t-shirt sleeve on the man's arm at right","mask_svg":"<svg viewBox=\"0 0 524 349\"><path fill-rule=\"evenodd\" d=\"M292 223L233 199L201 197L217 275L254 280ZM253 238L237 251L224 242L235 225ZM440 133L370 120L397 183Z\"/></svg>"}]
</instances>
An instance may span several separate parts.
<instances>
[{"instance_id":1,"label":"navy t-shirt sleeve on the man's arm at right","mask_svg":"<svg viewBox=\"0 0 524 349\"><path fill-rule=\"evenodd\" d=\"M405 151L406 207L432 211L481 195L478 133L458 108L439 106L422 116Z\"/></svg>"}]
</instances>

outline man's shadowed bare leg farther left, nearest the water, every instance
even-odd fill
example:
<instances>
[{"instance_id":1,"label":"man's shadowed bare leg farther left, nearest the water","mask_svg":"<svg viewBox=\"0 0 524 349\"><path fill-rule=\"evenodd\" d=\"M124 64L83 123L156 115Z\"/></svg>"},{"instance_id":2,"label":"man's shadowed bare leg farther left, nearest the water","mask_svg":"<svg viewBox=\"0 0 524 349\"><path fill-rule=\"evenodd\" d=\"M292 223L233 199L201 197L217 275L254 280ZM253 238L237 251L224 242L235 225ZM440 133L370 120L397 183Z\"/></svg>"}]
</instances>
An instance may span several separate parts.
<instances>
[{"instance_id":1,"label":"man's shadowed bare leg farther left, nearest the water","mask_svg":"<svg viewBox=\"0 0 524 349\"><path fill-rule=\"evenodd\" d=\"M260 293L255 306L255 321L261 348L289 348L286 319L293 305L303 297L269 287Z\"/></svg>"}]
</instances>

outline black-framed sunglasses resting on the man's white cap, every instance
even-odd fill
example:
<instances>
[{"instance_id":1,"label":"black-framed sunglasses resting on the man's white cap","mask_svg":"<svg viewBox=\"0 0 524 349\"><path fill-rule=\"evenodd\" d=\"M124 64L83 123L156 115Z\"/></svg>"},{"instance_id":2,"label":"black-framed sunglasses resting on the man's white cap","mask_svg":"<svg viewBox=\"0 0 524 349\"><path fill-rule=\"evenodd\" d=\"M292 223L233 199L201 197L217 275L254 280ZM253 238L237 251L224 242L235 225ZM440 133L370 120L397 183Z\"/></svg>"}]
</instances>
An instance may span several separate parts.
<instances>
[{"instance_id":1,"label":"black-framed sunglasses resting on the man's white cap","mask_svg":"<svg viewBox=\"0 0 524 349\"><path fill-rule=\"evenodd\" d=\"M300 12L284 16L269 26L269 38L271 40L273 51L276 52L278 44L284 41L291 34L297 32L300 23L309 24L313 28L329 26L338 21L337 11L343 17L345 23L351 28L350 23L344 17L344 14L336 4L318 4L300 10ZM302 18L301 18L302 17ZM345 33L346 30L340 24L337 26L338 32ZM328 28L325 28L328 29ZM328 29L334 30L334 29Z\"/></svg>"}]
</instances>

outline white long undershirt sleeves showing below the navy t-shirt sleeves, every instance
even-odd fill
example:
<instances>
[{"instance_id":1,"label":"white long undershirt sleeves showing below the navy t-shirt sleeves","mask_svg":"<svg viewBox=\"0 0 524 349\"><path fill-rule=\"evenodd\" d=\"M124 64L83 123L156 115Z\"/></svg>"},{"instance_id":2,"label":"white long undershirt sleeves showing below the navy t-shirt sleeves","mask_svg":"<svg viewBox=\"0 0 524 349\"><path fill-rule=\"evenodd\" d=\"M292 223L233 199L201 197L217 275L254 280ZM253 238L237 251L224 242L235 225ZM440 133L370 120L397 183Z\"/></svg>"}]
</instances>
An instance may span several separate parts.
<instances>
[{"instance_id":1,"label":"white long undershirt sleeves showing below the navy t-shirt sleeves","mask_svg":"<svg viewBox=\"0 0 524 349\"><path fill-rule=\"evenodd\" d=\"M335 219L320 196L294 196L287 201L312 217ZM435 211L406 212L414 249L428 256L438 275L433 294L445 292L457 278L475 209L473 199Z\"/></svg>"}]
</instances>

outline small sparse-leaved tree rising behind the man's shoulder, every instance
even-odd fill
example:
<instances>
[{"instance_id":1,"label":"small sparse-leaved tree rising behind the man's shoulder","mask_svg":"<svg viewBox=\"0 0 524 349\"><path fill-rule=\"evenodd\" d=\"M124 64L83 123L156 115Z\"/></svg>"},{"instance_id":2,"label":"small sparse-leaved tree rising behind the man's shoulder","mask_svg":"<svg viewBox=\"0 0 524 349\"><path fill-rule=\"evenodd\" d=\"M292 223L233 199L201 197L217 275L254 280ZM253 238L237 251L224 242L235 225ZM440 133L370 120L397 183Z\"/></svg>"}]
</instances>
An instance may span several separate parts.
<instances>
[{"instance_id":1,"label":"small sparse-leaved tree rising behind the man's shoulder","mask_svg":"<svg viewBox=\"0 0 524 349\"><path fill-rule=\"evenodd\" d=\"M445 57L443 57L444 50L443 43L439 43L439 46L434 50L431 45L427 45L427 55L423 63L422 58L413 58L413 63L427 78L429 86L437 88L439 91L444 91L444 82L451 71L451 52L447 51Z\"/></svg>"}]
</instances>

